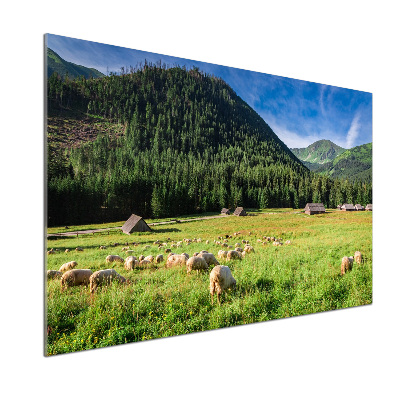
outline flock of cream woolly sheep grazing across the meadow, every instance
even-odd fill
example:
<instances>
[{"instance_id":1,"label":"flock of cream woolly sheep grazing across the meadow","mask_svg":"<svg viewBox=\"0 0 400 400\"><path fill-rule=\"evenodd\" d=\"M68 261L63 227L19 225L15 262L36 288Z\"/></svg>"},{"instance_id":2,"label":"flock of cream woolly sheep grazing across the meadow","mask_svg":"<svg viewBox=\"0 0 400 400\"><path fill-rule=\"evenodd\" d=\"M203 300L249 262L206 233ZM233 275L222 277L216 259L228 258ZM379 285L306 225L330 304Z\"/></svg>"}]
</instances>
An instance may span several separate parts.
<instances>
[{"instance_id":1,"label":"flock of cream woolly sheep grazing across the meadow","mask_svg":"<svg viewBox=\"0 0 400 400\"><path fill-rule=\"evenodd\" d=\"M238 236L239 233L235 232L233 236ZM249 232L251 235L251 232ZM221 246L223 249L218 251L217 257L222 261L233 261L233 260L241 260L247 255L254 253L255 250L253 246L250 245L248 240L243 239L241 243L236 243L235 246L228 244L228 239L233 238L232 235L225 235L225 237L219 236L218 240L214 240L216 245ZM167 241L171 239L168 238ZM187 274L192 271L196 271L197 273L201 271L208 272L209 268L213 266L213 269L210 272L210 294L211 294L211 303L213 303L214 294L217 293L218 303L221 304L221 294L227 289L235 289L236 288L236 280L232 276L232 272L230 268L226 265L220 265L219 261L215 257L215 255L206 250L202 250L200 252L196 252L193 256L190 256L188 253L176 254L172 252L172 249L177 249L182 247L183 244L190 245L191 243L199 243L201 239L183 239L182 241L174 242L171 241L171 244L161 243L159 240L154 242L154 245L158 246L158 250L163 250L167 255L165 267L186 267ZM266 245L268 242L272 242L274 246L282 246L282 239L275 237L267 237L263 236L263 239L257 239L258 243L262 245ZM205 242L209 244L207 240ZM287 240L285 242L286 245L290 245L291 241ZM114 246L118 246L119 243L114 243ZM127 245L127 243L126 243ZM139 243L133 243L134 246L138 246ZM242 247L243 246L243 247ZM144 247L144 250L150 249L151 246L147 245ZM226 248L226 250L224 250ZM105 250L106 246L100 246L100 250ZM70 250L66 249L65 252L68 253ZM75 251L83 251L81 247L77 247ZM129 246L125 246L122 248L122 251L127 254L127 257L124 259L118 255L108 255L106 257L106 263L123 263L124 269L126 271L132 271L135 268L142 267L150 267L155 264L160 264L164 262L164 255L158 254L156 257L152 255L144 256L140 255L136 258L132 253L134 250L131 250ZM56 250L51 249L47 252L47 254L54 254ZM341 274L344 275L347 271L350 271L353 266L353 261L357 263L361 263L362 255L359 251L356 251L354 257L343 257L342 265L341 265ZM76 269L78 263L76 261L69 261L63 264L59 270L48 270L47 271L47 279L60 279L61 281L61 290L63 291L67 287L85 285L90 286L90 293L93 295L97 288L100 286L109 285L111 282L119 282L123 284L129 284L130 281L118 274L115 269L103 269L96 272L92 272L90 269Z\"/></svg>"}]
</instances>

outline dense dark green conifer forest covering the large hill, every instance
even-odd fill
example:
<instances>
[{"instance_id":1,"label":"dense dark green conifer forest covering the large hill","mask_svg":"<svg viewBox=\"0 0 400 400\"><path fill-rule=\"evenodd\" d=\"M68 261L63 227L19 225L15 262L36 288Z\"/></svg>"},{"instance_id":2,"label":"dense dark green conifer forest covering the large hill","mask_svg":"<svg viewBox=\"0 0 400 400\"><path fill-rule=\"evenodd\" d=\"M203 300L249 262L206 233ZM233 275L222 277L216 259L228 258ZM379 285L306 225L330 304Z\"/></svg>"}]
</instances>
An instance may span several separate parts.
<instances>
[{"instance_id":1,"label":"dense dark green conifer forest covering the large hill","mask_svg":"<svg viewBox=\"0 0 400 400\"><path fill-rule=\"evenodd\" d=\"M372 202L371 184L318 176L221 79L144 65L101 79L48 82L60 107L125 123L49 165L50 225L250 208ZM61 154L58 152L57 154ZM60 165L64 167L61 168Z\"/></svg>"}]
</instances>

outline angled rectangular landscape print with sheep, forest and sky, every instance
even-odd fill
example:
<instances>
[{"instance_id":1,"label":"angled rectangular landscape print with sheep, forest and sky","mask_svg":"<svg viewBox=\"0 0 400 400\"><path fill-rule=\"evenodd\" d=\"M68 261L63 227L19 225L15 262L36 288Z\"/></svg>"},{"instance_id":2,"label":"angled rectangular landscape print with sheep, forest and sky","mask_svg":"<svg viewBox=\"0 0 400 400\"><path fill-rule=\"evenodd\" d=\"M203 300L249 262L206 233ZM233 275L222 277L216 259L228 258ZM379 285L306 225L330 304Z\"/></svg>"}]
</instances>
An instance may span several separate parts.
<instances>
[{"instance_id":1,"label":"angled rectangular landscape print with sheep, forest and sky","mask_svg":"<svg viewBox=\"0 0 400 400\"><path fill-rule=\"evenodd\" d=\"M372 94L45 51L46 355L372 303Z\"/></svg>"}]
</instances>

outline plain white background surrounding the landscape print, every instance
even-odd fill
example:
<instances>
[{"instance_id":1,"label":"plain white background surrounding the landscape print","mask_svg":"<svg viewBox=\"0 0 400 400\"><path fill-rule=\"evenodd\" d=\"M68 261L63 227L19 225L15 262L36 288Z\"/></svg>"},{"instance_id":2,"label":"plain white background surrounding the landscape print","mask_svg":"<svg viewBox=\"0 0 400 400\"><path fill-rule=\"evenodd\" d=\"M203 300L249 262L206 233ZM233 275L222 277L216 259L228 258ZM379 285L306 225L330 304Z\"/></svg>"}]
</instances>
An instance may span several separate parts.
<instances>
[{"instance_id":1,"label":"plain white background surrounding the landscape print","mask_svg":"<svg viewBox=\"0 0 400 400\"><path fill-rule=\"evenodd\" d=\"M399 398L396 2L260 3L2 5L2 398ZM373 305L43 357L44 33L372 92Z\"/></svg>"}]
</instances>

